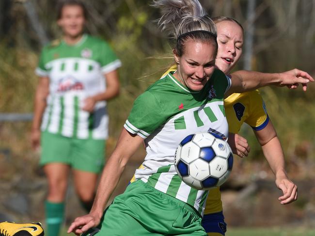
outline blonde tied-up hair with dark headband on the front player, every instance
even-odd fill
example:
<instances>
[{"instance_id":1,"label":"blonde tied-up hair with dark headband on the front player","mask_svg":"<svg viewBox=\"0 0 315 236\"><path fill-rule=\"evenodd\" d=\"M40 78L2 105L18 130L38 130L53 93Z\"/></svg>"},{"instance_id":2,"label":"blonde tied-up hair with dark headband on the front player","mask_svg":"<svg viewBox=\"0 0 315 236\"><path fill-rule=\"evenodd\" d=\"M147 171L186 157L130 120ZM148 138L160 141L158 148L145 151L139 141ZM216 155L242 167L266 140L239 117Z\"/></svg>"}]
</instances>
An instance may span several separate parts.
<instances>
[{"instance_id":1,"label":"blonde tied-up hair with dark headband on the front player","mask_svg":"<svg viewBox=\"0 0 315 236\"><path fill-rule=\"evenodd\" d=\"M218 48L216 25L198 0L153 0L151 5L161 11L157 20L161 30L176 39L178 56L183 55L188 39L210 42Z\"/></svg>"}]
</instances>

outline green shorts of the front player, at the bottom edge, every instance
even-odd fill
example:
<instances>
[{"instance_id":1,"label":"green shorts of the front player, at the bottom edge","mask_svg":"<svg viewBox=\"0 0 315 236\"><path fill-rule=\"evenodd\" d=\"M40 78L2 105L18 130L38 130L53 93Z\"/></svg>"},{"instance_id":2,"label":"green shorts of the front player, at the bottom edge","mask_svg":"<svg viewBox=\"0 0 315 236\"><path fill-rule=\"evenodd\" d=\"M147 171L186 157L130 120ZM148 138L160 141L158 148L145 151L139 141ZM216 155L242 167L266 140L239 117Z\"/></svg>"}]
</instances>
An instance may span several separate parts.
<instances>
[{"instance_id":1,"label":"green shorts of the front player, at the bottom edge","mask_svg":"<svg viewBox=\"0 0 315 236\"><path fill-rule=\"evenodd\" d=\"M84 236L207 236L192 207L141 180L114 199L97 228Z\"/></svg>"}]
</instances>

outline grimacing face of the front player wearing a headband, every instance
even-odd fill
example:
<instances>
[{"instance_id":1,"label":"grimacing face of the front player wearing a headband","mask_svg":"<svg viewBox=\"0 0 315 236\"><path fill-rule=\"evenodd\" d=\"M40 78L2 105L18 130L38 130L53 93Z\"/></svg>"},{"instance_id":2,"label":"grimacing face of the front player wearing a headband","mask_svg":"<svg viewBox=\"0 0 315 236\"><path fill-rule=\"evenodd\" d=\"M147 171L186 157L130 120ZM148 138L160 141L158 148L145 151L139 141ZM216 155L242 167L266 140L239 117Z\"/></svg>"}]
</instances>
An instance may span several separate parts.
<instances>
[{"instance_id":1,"label":"grimacing face of the front player wearing a headband","mask_svg":"<svg viewBox=\"0 0 315 236\"><path fill-rule=\"evenodd\" d=\"M181 57L174 53L178 72L175 78L184 83L190 90L200 91L210 79L215 69L216 48L212 43L196 42L192 39L185 42Z\"/></svg>"}]
</instances>

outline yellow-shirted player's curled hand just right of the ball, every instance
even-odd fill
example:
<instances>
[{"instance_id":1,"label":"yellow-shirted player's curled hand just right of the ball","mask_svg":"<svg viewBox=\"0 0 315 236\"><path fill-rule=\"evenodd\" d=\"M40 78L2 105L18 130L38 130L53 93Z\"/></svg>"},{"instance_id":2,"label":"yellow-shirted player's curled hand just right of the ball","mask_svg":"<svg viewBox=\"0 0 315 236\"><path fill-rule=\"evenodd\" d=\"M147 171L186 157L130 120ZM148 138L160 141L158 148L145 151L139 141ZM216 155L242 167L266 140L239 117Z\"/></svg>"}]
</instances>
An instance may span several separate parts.
<instances>
[{"instance_id":1,"label":"yellow-shirted player's curled hand just right of the ball","mask_svg":"<svg viewBox=\"0 0 315 236\"><path fill-rule=\"evenodd\" d=\"M227 141L232 149L232 152L239 157L247 157L251 148L245 138L238 134L229 133Z\"/></svg>"}]
</instances>

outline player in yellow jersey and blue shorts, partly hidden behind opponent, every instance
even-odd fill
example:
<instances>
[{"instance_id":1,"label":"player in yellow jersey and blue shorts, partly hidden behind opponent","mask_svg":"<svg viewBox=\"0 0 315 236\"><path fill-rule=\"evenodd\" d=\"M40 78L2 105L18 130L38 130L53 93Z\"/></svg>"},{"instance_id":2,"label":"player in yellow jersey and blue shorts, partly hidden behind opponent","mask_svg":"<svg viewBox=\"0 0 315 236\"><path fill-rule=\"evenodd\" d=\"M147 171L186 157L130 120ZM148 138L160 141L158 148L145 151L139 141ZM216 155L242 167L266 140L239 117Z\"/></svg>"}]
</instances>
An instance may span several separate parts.
<instances>
[{"instance_id":1,"label":"player in yellow jersey and blue shorts, partly hidden behind opponent","mask_svg":"<svg viewBox=\"0 0 315 236\"><path fill-rule=\"evenodd\" d=\"M212 20L218 31L216 66L228 75L242 55L243 27L230 17L218 16ZM280 203L288 204L295 201L298 195L297 186L285 173L284 153L259 92L231 94L224 99L224 108L229 124L229 143L233 146L236 141L237 144L233 146L233 151L240 157L248 156L247 141L235 134L239 132L244 122L252 126L271 170L276 176L276 186L283 191L283 196L279 197ZM226 231L219 188L209 190L202 223L209 236L222 236Z\"/></svg>"}]
</instances>

